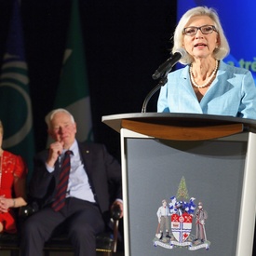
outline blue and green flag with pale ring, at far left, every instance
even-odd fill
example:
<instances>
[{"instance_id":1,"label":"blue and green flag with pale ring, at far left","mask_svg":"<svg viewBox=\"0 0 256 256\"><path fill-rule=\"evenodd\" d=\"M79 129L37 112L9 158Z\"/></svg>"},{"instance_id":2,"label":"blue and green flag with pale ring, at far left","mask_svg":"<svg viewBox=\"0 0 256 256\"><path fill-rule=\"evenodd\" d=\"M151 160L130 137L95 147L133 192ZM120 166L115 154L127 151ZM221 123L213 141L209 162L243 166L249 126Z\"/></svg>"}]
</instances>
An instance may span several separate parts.
<instances>
[{"instance_id":1,"label":"blue and green flag with pale ring, at far left","mask_svg":"<svg viewBox=\"0 0 256 256\"><path fill-rule=\"evenodd\" d=\"M1 69L0 119L4 126L3 148L24 158L30 179L34 157L34 133L28 69L24 56L20 4L18 0L14 0L7 51Z\"/></svg>"}]
</instances>

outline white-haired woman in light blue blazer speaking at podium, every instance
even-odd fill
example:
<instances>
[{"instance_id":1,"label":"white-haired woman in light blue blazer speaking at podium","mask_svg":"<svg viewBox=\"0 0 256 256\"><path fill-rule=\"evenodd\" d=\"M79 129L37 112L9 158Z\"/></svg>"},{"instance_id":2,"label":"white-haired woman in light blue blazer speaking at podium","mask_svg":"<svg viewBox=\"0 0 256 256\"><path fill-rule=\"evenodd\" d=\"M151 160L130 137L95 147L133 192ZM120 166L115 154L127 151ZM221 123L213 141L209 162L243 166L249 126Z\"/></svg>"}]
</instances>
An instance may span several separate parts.
<instances>
[{"instance_id":1,"label":"white-haired woman in light blue blazer speaking at podium","mask_svg":"<svg viewBox=\"0 0 256 256\"><path fill-rule=\"evenodd\" d=\"M229 53L217 12L194 7L183 14L172 53L185 49L185 66L168 74L157 112L229 115L256 119L256 88L249 70L222 60Z\"/></svg>"}]
</instances>

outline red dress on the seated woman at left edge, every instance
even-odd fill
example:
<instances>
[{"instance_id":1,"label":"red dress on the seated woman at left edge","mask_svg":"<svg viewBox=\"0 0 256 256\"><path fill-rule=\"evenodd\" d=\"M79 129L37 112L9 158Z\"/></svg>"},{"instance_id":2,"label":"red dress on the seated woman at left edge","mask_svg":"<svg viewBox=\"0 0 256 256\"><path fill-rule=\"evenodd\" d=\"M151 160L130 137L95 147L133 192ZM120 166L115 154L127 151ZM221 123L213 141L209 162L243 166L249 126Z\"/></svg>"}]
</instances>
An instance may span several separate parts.
<instances>
[{"instance_id":1,"label":"red dress on the seated woman at left edge","mask_svg":"<svg viewBox=\"0 0 256 256\"><path fill-rule=\"evenodd\" d=\"M25 177L26 165L20 155L4 151L0 157L0 167L2 171L0 173L0 195L12 198L14 175L19 178ZM0 222L4 224L4 232L17 232L12 209L9 209L8 212L0 212Z\"/></svg>"}]
</instances>

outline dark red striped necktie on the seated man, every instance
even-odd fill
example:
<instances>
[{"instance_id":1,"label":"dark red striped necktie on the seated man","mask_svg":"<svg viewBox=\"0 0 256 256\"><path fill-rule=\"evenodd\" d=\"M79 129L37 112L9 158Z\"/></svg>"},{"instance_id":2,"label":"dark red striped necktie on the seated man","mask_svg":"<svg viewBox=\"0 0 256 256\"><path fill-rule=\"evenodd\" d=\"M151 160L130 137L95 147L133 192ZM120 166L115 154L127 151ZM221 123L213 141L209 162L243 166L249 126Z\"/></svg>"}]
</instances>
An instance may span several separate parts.
<instances>
[{"instance_id":1,"label":"dark red striped necktie on the seated man","mask_svg":"<svg viewBox=\"0 0 256 256\"><path fill-rule=\"evenodd\" d=\"M72 151L66 151L61 165L60 181L56 189L55 201L52 203L52 209L60 210L65 205L66 192L70 173L70 155Z\"/></svg>"}]
</instances>

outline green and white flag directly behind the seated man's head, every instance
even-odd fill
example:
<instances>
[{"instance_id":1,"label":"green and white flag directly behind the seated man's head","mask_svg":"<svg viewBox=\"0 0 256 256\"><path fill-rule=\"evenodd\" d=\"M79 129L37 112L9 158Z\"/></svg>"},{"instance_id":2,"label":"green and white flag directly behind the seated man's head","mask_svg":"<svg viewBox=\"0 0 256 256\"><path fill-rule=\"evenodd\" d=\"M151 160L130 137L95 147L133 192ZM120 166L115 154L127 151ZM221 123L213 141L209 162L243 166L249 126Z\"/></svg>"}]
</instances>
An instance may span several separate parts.
<instances>
[{"instance_id":1,"label":"green and white flag directly behind the seated man's head","mask_svg":"<svg viewBox=\"0 0 256 256\"><path fill-rule=\"evenodd\" d=\"M54 108L65 108L74 115L78 141L92 141L92 124L87 67L78 1L73 0L61 81Z\"/></svg>"}]
</instances>

